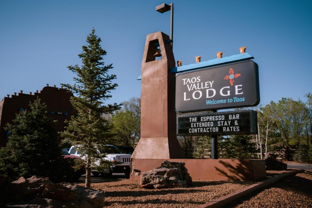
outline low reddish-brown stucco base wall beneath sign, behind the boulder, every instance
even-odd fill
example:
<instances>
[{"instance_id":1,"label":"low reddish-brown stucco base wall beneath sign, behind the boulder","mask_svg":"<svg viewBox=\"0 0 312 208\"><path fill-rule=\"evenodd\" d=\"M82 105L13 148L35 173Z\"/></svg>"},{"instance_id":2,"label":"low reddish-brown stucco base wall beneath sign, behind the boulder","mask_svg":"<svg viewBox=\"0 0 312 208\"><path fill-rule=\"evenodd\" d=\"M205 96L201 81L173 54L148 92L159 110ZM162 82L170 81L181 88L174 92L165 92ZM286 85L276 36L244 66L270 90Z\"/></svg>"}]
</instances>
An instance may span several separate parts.
<instances>
[{"instance_id":1,"label":"low reddish-brown stucco base wall beneath sign, behind the boulder","mask_svg":"<svg viewBox=\"0 0 312 208\"><path fill-rule=\"evenodd\" d=\"M167 159L168 161L185 162L193 181L257 181L266 178L264 160L240 159ZM132 159L131 180L140 181L141 172L159 167L165 159Z\"/></svg>"}]
</instances>

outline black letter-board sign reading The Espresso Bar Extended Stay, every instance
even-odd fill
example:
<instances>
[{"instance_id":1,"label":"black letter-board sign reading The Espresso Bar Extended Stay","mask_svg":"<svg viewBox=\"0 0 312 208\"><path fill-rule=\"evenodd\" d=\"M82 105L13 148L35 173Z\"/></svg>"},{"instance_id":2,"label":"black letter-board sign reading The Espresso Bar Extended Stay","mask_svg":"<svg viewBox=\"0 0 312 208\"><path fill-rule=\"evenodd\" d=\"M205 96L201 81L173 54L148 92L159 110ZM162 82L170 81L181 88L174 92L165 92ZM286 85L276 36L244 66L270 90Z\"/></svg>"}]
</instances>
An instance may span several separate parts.
<instances>
[{"instance_id":1,"label":"black letter-board sign reading The Espresso Bar Extended Stay","mask_svg":"<svg viewBox=\"0 0 312 208\"><path fill-rule=\"evenodd\" d=\"M257 112L252 110L177 117L178 136L257 134L257 132Z\"/></svg>"}]
</instances>

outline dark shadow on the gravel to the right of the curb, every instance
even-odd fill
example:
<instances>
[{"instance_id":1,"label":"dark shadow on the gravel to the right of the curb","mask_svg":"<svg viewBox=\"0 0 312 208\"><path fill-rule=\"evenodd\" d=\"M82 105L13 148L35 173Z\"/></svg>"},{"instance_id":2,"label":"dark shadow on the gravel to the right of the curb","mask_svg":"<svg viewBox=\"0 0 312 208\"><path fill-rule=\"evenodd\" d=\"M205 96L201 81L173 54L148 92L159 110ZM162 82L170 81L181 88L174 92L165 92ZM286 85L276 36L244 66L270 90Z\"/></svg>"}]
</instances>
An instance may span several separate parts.
<instances>
[{"instance_id":1,"label":"dark shadow on the gravel to the right of the curb","mask_svg":"<svg viewBox=\"0 0 312 208\"><path fill-rule=\"evenodd\" d=\"M303 174L310 175L311 172L310 173L304 172ZM275 174L275 175L277 175L277 174ZM247 194L246 196L243 196L243 197L227 204L224 207L227 207L227 208L236 207L236 206L242 204L244 201L249 201L249 200L251 200L251 198L256 197L262 191L265 191L265 190L271 189L271 188L284 189L286 191L293 191L293 192L301 193L303 195L312 197L311 187L312 187L312 180L309 180L309 179L306 179L306 178L303 178L300 176L296 176L296 175L286 176L285 178L282 178L280 181L277 181L276 183L273 183L269 186L266 186L266 187L261 188L257 191L254 191L251 194ZM270 196L268 196L268 197L270 197ZM298 200L300 201L300 199L298 199ZM282 204L280 206L283 207Z\"/></svg>"}]
</instances>

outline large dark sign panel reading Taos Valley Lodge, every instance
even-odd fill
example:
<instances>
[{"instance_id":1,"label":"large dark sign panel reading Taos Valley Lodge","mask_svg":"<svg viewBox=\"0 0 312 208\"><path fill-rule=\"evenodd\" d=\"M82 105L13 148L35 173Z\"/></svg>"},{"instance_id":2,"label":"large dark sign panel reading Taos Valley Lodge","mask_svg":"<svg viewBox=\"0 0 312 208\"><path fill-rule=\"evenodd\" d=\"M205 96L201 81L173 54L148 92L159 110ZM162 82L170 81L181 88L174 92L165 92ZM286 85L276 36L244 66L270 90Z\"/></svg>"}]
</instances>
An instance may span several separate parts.
<instances>
[{"instance_id":1,"label":"large dark sign panel reading Taos Valley Lodge","mask_svg":"<svg viewBox=\"0 0 312 208\"><path fill-rule=\"evenodd\" d=\"M256 106L259 102L258 66L250 60L176 76L177 112Z\"/></svg>"}]
</instances>

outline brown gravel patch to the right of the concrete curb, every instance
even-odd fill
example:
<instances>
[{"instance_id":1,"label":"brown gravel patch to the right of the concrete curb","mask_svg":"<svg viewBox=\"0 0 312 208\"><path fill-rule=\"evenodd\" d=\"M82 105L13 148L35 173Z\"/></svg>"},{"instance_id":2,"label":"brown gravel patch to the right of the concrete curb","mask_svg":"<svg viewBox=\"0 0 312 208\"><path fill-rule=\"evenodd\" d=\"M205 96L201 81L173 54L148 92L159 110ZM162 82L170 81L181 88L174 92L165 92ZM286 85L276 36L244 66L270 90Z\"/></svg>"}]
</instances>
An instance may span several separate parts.
<instances>
[{"instance_id":1,"label":"brown gravel patch to the right of the concrete curb","mask_svg":"<svg viewBox=\"0 0 312 208\"><path fill-rule=\"evenodd\" d=\"M226 207L312 207L312 172L286 176Z\"/></svg>"}]
</instances>

